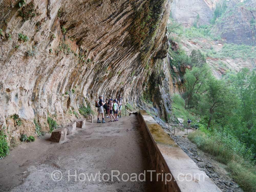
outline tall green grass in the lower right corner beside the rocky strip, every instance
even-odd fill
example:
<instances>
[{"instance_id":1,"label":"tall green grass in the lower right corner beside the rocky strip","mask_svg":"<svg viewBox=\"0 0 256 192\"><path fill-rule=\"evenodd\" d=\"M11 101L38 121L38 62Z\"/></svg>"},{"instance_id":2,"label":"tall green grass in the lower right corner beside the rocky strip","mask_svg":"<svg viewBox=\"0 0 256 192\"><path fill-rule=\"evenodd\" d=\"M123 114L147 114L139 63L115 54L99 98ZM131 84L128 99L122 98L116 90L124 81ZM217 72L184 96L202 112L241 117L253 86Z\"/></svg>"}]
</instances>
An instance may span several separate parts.
<instances>
[{"instance_id":1,"label":"tall green grass in the lower right corner beside the rocky strip","mask_svg":"<svg viewBox=\"0 0 256 192\"><path fill-rule=\"evenodd\" d=\"M216 160L225 163L227 170L244 191L256 191L256 168L252 148L247 148L228 130L220 128L199 130L189 133L188 139Z\"/></svg>"}]
</instances>

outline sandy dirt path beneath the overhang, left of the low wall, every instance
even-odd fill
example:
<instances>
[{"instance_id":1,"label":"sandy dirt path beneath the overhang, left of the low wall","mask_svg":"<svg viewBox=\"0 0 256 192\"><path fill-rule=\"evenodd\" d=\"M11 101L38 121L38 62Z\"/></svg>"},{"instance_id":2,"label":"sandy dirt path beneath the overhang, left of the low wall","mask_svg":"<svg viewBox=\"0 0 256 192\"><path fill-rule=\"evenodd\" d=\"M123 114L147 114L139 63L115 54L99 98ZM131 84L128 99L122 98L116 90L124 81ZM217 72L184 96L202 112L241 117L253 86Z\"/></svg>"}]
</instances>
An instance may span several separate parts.
<instances>
[{"instance_id":1,"label":"sandy dirt path beneath the overhang, left of the low wall","mask_svg":"<svg viewBox=\"0 0 256 192\"><path fill-rule=\"evenodd\" d=\"M64 144L48 141L48 134L11 151L0 161L0 191L156 191L150 179L119 182L114 177L111 181L111 170L118 170L120 179L123 173L139 175L144 170L151 170L135 115L119 118L117 122L86 122L86 125L86 129L77 128L75 134L68 135ZM58 182L52 179L54 171L62 173ZM103 182L102 176L100 181L98 176L95 181L88 181L88 177L84 180L83 174L95 176L99 171L108 173L110 181ZM77 172L77 176L68 179L68 172L70 175ZM53 177L59 179L61 174L56 173Z\"/></svg>"}]
</instances>

